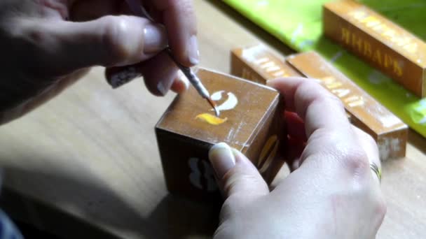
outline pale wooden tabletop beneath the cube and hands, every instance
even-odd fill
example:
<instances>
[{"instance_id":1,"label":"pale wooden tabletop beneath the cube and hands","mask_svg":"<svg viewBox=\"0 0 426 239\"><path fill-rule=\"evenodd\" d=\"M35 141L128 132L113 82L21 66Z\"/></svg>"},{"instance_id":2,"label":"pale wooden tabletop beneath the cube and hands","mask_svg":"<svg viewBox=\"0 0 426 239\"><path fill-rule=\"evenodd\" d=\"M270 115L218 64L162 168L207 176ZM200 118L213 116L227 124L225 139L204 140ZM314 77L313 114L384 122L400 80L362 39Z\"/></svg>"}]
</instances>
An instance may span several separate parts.
<instances>
[{"instance_id":1,"label":"pale wooden tabletop beneath the cube and hands","mask_svg":"<svg viewBox=\"0 0 426 239\"><path fill-rule=\"evenodd\" d=\"M195 1L195 8L201 66L228 73L230 50L259 42L289 53L220 1ZM209 238L218 205L165 188L153 127L173 98L151 96L140 79L113 90L94 68L53 101L1 126L5 210L69 237ZM425 151L426 139L410 131L406 158L383 164L388 209L378 238L426 238Z\"/></svg>"}]
</instances>

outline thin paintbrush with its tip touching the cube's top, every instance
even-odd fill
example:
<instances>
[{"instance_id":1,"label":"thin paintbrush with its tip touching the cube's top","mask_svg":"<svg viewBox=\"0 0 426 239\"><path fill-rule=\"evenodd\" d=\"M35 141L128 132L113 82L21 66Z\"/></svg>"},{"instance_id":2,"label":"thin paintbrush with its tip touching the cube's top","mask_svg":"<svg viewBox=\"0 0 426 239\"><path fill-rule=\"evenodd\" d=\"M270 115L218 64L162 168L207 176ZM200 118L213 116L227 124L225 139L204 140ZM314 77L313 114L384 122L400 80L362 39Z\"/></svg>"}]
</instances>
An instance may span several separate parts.
<instances>
[{"instance_id":1,"label":"thin paintbrush with its tip touching the cube's top","mask_svg":"<svg viewBox=\"0 0 426 239\"><path fill-rule=\"evenodd\" d=\"M130 9L133 11L133 13L135 13L137 16L145 17L146 19L150 20L151 22L155 22L153 20L153 18L151 17L151 15L149 15L146 12L145 8L143 6L141 6L139 3L132 1L132 0L126 0L126 2L128 3L128 5L129 5ZM176 66L182 71L182 73L184 73L186 78L188 78L189 82L191 82L191 85L193 85L193 87L197 90L198 94L200 94L200 96L202 98L206 99L207 102L209 102L210 106L212 106L212 108L214 109L214 113L216 113L216 116L219 117L220 113L219 113L219 110L216 107L216 103L214 103L212 98L210 98L209 92L204 87L204 85L202 85L202 82L197 77L197 75L195 75L193 73L191 68L184 66L184 65L180 64L179 61L177 61L177 59L174 57L170 47L167 46L165 51L170 56L170 58L174 61L174 64L176 64Z\"/></svg>"}]
</instances>

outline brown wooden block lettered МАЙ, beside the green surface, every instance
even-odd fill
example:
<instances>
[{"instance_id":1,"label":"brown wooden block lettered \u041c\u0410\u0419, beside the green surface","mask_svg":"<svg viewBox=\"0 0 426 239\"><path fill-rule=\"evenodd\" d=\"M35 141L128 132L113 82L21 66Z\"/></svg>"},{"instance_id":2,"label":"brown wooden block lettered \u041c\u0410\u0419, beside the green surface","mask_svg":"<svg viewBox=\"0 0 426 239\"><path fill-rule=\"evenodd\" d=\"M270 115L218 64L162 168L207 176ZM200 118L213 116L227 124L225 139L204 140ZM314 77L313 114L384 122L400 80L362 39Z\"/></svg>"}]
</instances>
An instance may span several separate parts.
<instances>
[{"instance_id":1,"label":"brown wooden block lettered \u041c\u0410\u0419, beside the green surface","mask_svg":"<svg viewBox=\"0 0 426 239\"><path fill-rule=\"evenodd\" d=\"M377 142L380 159L404 157L408 126L315 52L292 55L287 62L308 78L320 80L343 102L352 124Z\"/></svg>"}]
</instances>

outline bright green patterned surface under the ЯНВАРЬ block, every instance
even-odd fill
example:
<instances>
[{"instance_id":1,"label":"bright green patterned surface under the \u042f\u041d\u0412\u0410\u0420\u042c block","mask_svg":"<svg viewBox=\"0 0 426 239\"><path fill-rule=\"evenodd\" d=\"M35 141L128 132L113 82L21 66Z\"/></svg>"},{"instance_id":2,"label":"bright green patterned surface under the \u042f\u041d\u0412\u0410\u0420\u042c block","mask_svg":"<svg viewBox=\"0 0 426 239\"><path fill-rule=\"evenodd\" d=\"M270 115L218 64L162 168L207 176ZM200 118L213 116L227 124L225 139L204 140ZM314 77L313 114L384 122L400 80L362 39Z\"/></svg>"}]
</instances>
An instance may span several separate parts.
<instances>
[{"instance_id":1,"label":"bright green patterned surface under the \u042f\u041d\u0412\u0410\u0420\u042c block","mask_svg":"<svg viewBox=\"0 0 426 239\"><path fill-rule=\"evenodd\" d=\"M322 36L328 0L224 0L294 50L316 50L412 129L426 136L426 99L420 99L361 59ZM416 36L426 39L425 0L361 0Z\"/></svg>"}]
</instances>

